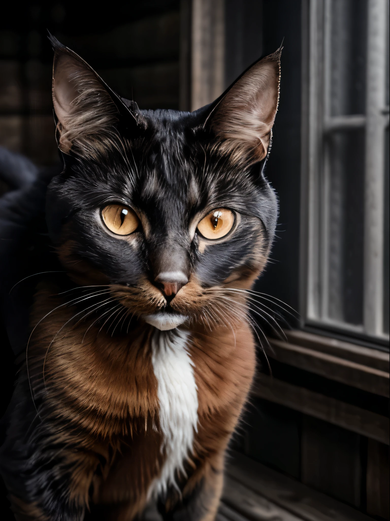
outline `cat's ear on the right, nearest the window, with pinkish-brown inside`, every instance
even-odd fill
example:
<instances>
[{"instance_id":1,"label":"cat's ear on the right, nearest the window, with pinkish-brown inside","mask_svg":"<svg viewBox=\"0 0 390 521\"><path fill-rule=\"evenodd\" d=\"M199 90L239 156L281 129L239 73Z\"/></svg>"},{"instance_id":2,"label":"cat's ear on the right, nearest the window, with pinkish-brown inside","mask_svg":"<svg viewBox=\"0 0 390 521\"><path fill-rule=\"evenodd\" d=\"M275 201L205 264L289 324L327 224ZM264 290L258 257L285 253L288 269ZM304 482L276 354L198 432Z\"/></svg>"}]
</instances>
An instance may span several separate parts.
<instances>
[{"instance_id":1,"label":"cat's ear on the right, nearest the window, with pinkish-brown inside","mask_svg":"<svg viewBox=\"0 0 390 521\"><path fill-rule=\"evenodd\" d=\"M281 48L252 65L224 93L210 115L220 150L233 162L264 159L279 102Z\"/></svg>"}]
</instances>

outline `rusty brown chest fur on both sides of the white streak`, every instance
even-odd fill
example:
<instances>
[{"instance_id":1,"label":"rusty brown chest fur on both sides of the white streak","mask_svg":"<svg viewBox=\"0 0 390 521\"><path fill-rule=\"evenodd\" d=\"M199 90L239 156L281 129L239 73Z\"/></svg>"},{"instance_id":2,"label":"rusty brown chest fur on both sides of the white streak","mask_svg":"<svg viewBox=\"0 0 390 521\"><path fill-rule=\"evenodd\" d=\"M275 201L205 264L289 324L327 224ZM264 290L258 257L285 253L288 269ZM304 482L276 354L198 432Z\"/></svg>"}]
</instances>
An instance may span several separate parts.
<instances>
[{"instance_id":1,"label":"rusty brown chest fur on both sides of the white streak","mask_svg":"<svg viewBox=\"0 0 390 521\"><path fill-rule=\"evenodd\" d=\"M62 303L50 293L37 294L35 324ZM94 503L126 503L126 518L131 518L145 504L165 457L152 330L140 325L110 336L100 324L92 325L93 319L72 320L74 313L59 307L32 334L28 366L34 398L63 446L64 465L72 468L73 500L88 504L92 493ZM252 333L244 322L235 330L191 331L188 348L199 406L186 489L208 466L223 465L220 453L237 424L255 367Z\"/></svg>"}]
</instances>

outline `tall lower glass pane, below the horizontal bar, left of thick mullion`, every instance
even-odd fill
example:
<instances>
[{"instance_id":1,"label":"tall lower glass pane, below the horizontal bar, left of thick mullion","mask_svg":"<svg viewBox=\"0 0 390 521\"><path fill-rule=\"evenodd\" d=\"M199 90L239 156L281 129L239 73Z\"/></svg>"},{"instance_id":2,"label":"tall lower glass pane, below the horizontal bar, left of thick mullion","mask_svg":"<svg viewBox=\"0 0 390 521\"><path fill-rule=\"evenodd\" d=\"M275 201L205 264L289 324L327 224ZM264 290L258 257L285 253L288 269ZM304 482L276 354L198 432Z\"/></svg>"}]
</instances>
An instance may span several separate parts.
<instances>
[{"instance_id":1,"label":"tall lower glass pane, below the horizontal bar, left of thick mullion","mask_svg":"<svg viewBox=\"0 0 390 521\"><path fill-rule=\"evenodd\" d=\"M328 316L363 322L363 212L365 133L329 137Z\"/></svg>"}]
</instances>

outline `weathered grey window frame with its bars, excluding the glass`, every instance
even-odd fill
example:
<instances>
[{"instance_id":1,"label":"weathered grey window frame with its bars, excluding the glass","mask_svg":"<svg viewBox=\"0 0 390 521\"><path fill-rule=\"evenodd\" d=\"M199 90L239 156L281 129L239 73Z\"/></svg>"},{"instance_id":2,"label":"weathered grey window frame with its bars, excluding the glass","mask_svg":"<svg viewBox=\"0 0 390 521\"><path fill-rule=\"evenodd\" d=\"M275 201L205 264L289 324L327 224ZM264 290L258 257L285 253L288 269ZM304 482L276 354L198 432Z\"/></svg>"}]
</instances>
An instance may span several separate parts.
<instances>
[{"instance_id":1,"label":"weathered grey window frame with its bars, excluding the glass","mask_svg":"<svg viewBox=\"0 0 390 521\"><path fill-rule=\"evenodd\" d=\"M383 333L383 226L386 19L388 0L368 0L366 114L330 116L331 0L306 0L302 10L301 327L388 345ZM329 167L324 143L329 133L366 129L365 224L363 238L363 324L333 321L327 308ZM372 233L372 230L375 232ZM325 267L324 267L324 265Z\"/></svg>"}]
</instances>

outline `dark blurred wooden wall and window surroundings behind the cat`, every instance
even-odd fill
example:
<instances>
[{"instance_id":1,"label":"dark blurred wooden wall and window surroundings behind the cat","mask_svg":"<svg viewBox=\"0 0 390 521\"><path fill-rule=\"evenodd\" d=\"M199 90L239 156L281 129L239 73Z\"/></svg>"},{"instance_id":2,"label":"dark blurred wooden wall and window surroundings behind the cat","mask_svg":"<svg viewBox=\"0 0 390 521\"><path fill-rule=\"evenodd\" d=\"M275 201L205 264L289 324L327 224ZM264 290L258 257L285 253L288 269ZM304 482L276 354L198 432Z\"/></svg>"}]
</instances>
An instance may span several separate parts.
<instances>
[{"instance_id":1,"label":"dark blurred wooden wall and window surroundings behind the cat","mask_svg":"<svg viewBox=\"0 0 390 521\"><path fill-rule=\"evenodd\" d=\"M3 4L0 145L48 166L47 31L140 108L194 110L283 44L280 216L256 289L290 329L259 331L270 369L259 350L218 515L389 519L388 0Z\"/></svg>"}]
</instances>

